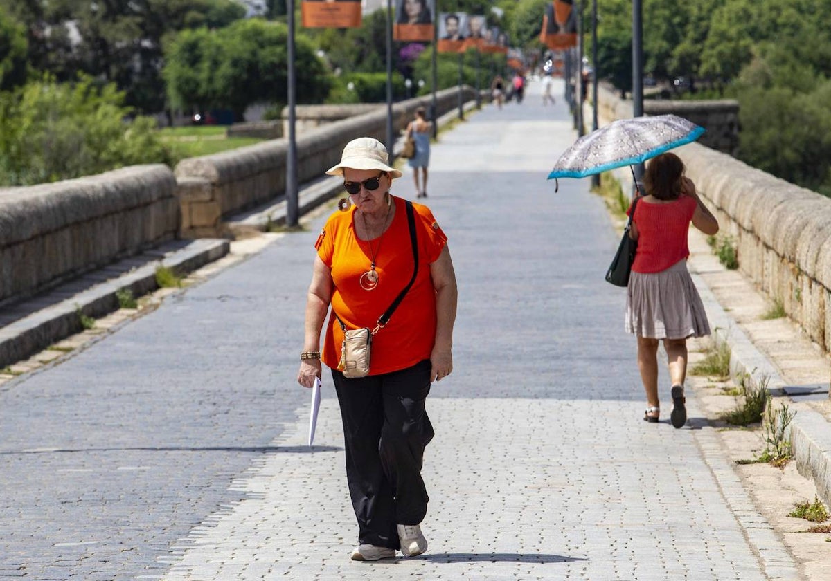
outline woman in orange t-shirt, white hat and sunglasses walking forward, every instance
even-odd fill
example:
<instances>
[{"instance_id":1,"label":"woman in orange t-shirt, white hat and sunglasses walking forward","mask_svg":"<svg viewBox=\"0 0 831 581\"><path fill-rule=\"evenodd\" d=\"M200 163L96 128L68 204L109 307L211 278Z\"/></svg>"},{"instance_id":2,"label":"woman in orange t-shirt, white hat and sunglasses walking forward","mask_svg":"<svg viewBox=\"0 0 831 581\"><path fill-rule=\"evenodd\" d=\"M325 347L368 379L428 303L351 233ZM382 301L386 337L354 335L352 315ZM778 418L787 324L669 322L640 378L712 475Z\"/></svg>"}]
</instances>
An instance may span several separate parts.
<instances>
[{"instance_id":1,"label":"woman in orange t-shirt, white hat and sunglasses walking forward","mask_svg":"<svg viewBox=\"0 0 831 581\"><path fill-rule=\"evenodd\" d=\"M381 142L361 137L327 171L343 177L349 199L315 243L297 372L298 383L311 388L321 361L332 369L358 521L356 561L390 559L396 549L406 556L427 550L420 523L429 498L421 466L434 434L425 399L430 383L453 371L457 291L447 237L428 207L390 193L401 172L388 159ZM361 377L354 361L342 364L342 342L347 329L365 328L372 330L371 358Z\"/></svg>"}]
</instances>

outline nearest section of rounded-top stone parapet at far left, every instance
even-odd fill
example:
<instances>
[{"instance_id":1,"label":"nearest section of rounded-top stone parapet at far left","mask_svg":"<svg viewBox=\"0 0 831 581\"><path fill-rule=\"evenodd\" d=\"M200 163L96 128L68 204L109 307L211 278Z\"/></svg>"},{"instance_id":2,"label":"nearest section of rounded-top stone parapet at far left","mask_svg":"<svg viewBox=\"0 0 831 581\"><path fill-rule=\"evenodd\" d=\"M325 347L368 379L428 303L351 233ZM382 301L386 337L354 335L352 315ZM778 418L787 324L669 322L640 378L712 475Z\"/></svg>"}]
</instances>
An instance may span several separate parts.
<instances>
[{"instance_id":1,"label":"nearest section of rounded-top stone parapet at far left","mask_svg":"<svg viewBox=\"0 0 831 581\"><path fill-rule=\"evenodd\" d=\"M136 165L0 194L0 305L170 240L176 180Z\"/></svg>"}]
</instances>

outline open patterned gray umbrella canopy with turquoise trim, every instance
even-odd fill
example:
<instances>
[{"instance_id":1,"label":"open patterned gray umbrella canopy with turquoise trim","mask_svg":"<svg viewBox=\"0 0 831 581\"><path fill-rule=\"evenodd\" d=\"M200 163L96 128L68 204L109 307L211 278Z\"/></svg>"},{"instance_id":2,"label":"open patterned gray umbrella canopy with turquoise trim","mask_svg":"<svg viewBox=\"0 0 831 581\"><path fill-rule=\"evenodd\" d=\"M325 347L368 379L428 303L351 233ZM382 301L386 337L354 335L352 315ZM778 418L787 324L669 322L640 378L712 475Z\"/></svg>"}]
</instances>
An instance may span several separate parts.
<instances>
[{"instance_id":1,"label":"open patterned gray umbrella canopy with turquoise trim","mask_svg":"<svg viewBox=\"0 0 831 581\"><path fill-rule=\"evenodd\" d=\"M704 128L678 115L613 121L583 135L554 164L548 179L585 178L624 165L642 164L656 155L698 139Z\"/></svg>"}]
</instances>

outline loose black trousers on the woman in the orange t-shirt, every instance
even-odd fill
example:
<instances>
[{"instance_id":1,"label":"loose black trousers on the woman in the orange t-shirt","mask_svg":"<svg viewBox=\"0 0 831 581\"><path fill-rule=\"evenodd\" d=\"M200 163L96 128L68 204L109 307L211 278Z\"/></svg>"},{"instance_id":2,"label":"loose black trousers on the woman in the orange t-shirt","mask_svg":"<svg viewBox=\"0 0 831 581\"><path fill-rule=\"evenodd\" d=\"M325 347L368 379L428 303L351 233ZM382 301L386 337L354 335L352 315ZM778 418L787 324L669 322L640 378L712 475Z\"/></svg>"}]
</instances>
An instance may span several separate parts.
<instances>
[{"instance_id":1,"label":"loose black trousers on the woman in the orange t-shirt","mask_svg":"<svg viewBox=\"0 0 831 581\"><path fill-rule=\"evenodd\" d=\"M365 378L332 369L341 405L347 481L361 544L400 549L396 525L418 525L427 514L421 478L433 426L424 403L430 361Z\"/></svg>"}]
</instances>

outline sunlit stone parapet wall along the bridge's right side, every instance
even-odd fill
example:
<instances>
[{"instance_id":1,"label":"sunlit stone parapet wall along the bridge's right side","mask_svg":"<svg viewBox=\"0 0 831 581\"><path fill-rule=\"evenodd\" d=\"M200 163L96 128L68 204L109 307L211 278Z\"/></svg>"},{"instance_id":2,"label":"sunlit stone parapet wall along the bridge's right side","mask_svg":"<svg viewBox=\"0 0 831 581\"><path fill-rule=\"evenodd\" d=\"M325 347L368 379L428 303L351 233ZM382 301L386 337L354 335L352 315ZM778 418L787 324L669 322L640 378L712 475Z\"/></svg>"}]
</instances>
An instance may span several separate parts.
<instances>
[{"instance_id":1,"label":"sunlit stone parapet wall along the bridge's right side","mask_svg":"<svg viewBox=\"0 0 831 581\"><path fill-rule=\"evenodd\" d=\"M631 101L611 91L599 92L598 105L601 125L632 116ZM660 112L685 116L686 110L667 105ZM720 236L735 242L740 271L780 300L824 351L831 350L831 199L702 144L674 152L718 218ZM628 168L617 176L631 186Z\"/></svg>"}]
</instances>

